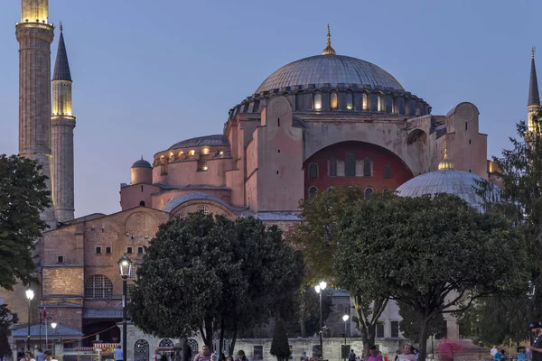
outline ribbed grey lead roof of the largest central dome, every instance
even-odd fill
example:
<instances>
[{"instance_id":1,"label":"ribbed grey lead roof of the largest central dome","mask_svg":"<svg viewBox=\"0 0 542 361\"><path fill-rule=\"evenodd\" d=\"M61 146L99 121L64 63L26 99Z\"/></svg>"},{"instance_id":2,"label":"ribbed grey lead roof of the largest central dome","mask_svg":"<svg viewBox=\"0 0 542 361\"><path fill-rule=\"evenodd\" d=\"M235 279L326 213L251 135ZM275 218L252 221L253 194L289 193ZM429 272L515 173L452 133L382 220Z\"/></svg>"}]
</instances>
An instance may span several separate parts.
<instances>
[{"instance_id":1,"label":"ribbed grey lead roof of the largest central dome","mask_svg":"<svg viewBox=\"0 0 542 361\"><path fill-rule=\"evenodd\" d=\"M344 55L316 55L291 62L267 78L256 94L277 88L309 84L355 84L375 88L405 90L388 71L369 61ZM363 87L360 87L363 88Z\"/></svg>"}]
</instances>

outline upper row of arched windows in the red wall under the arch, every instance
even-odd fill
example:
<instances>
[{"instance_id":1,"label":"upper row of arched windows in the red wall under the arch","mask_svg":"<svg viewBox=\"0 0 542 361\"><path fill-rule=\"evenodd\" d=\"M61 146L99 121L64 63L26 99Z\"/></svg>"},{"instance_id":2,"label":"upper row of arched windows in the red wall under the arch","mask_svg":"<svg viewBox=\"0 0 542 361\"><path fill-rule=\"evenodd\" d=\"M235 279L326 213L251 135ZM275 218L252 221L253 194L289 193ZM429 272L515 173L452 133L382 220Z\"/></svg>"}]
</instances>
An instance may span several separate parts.
<instances>
[{"instance_id":1,"label":"upper row of arched windows in the red wall under the arch","mask_svg":"<svg viewBox=\"0 0 542 361\"><path fill-rule=\"evenodd\" d=\"M309 178L318 178L320 171L318 163L309 163ZM373 176L373 162L369 157L363 158L363 160L356 160L353 152L347 152L344 157L344 162L337 161L336 157L332 157L328 160L328 176L330 177L372 177ZM389 164L384 165L383 178L391 178L391 167Z\"/></svg>"}]
</instances>

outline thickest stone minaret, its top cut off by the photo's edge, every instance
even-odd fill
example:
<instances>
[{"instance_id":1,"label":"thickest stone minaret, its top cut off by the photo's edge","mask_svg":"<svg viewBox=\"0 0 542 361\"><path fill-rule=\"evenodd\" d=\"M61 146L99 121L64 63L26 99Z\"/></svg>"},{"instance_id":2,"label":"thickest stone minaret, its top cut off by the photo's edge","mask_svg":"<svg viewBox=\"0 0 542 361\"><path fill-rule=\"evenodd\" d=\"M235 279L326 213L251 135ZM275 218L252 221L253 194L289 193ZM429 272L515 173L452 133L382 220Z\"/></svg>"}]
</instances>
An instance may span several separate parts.
<instances>
[{"instance_id":1,"label":"thickest stone minaret, its top cut off by the photo's edge","mask_svg":"<svg viewBox=\"0 0 542 361\"><path fill-rule=\"evenodd\" d=\"M22 0L19 42L19 155L42 164L51 190L51 42L48 0ZM54 208L42 219L55 227Z\"/></svg>"}]
</instances>

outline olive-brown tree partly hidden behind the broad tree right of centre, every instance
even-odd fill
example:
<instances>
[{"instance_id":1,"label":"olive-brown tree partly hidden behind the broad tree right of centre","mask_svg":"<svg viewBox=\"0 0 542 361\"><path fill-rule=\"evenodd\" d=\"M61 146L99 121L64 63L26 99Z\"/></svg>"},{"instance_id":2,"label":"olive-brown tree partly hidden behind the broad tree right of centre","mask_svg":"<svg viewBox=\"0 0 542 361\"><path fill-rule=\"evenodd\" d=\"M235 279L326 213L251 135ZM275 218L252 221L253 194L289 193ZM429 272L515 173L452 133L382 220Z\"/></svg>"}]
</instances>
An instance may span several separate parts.
<instances>
[{"instance_id":1,"label":"olive-brown tree partly hidden behind the broad tree right of centre","mask_svg":"<svg viewBox=\"0 0 542 361\"><path fill-rule=\"evenodd\" d=\"M363 191L357 187L333 187L331 191L314 194L300 202L302 221L289 232L287 238L304 252L305 282L314 285L322 280L337 285L333 264L336 250L341 242L341 219L363 199ZM357 267L352 260L347 267ZM363 347L369 352L377 336L378 318L386 309L388 297L379 292L369 292L355 283L342 282L340 286L350 292L350 300L356 315L352 320L360 330Z\"/></svg>"}]
</instances>

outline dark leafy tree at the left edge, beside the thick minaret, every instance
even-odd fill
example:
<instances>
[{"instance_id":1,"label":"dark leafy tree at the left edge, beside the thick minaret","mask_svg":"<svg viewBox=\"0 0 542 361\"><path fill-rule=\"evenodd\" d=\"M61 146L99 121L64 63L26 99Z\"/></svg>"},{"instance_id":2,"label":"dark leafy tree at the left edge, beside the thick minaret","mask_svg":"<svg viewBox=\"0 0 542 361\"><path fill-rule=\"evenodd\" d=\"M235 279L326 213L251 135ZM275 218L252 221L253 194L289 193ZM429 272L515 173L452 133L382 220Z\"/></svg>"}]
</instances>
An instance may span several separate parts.
<instances>
[{"instance_id":1,"label":"dark leafy tree at the left edge, beside the thick minaret","mask_svg":"<svg viewBox=\"0 0 542 361\"><path fill-rule=\"evenodd\" d=\"M33 280L32 249L47 228L40 213L51 205L51 193L41 168L27 158L0 155L0 287L9 291Z\"/></svg>"}]
</instances>

